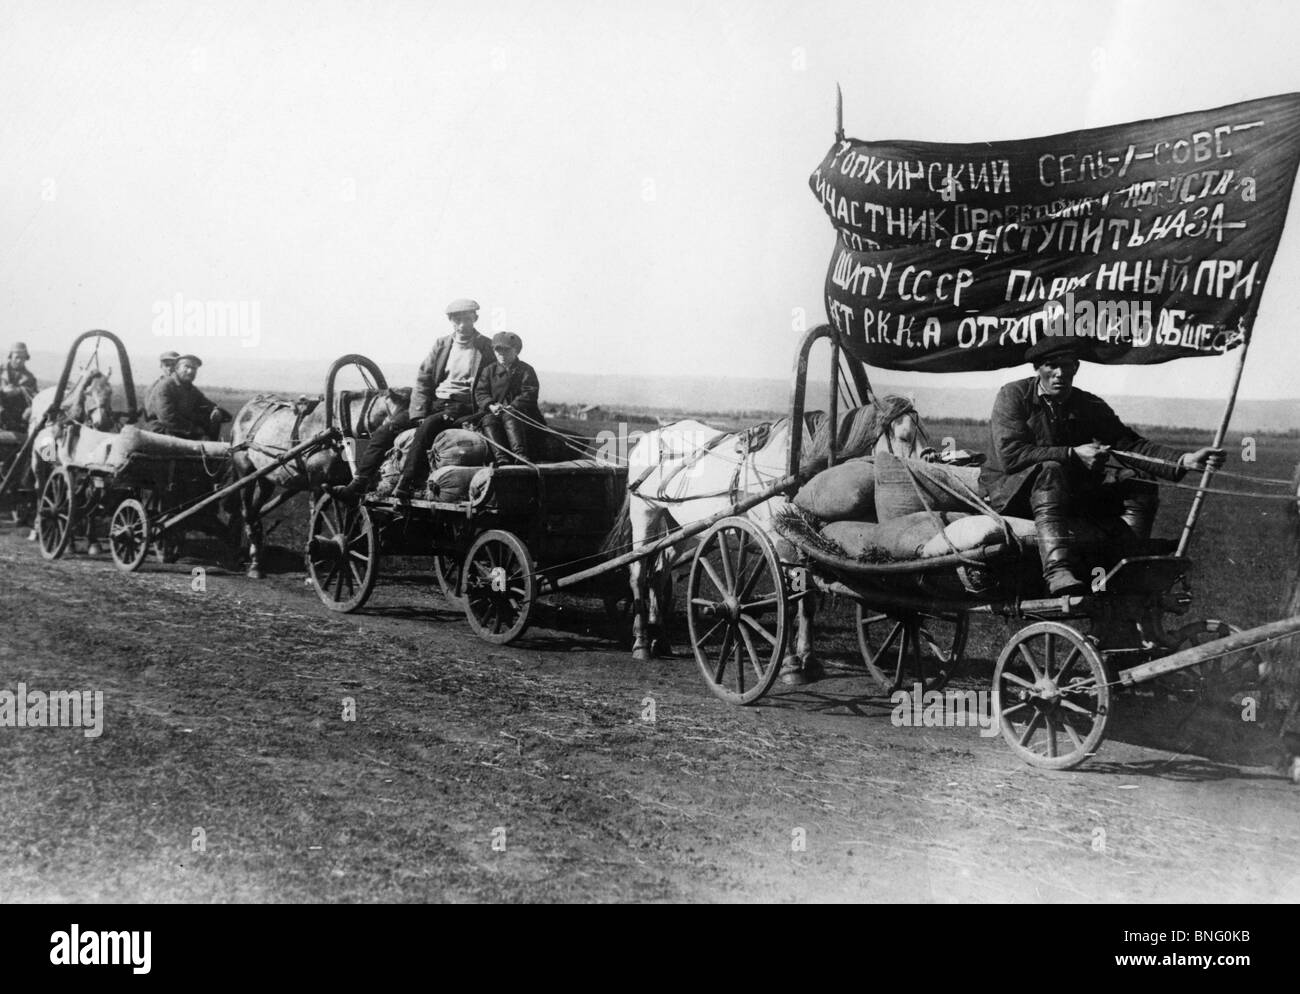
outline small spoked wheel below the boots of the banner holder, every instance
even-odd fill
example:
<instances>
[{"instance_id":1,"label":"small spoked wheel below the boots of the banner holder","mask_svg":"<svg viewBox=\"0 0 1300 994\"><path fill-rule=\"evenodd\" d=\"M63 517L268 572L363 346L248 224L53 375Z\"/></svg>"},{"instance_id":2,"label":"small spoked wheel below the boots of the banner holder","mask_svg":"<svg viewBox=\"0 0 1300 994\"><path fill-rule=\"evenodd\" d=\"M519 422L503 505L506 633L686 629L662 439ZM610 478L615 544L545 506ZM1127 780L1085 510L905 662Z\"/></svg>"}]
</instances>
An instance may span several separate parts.
<instances>
[{"instance_id":1,"label":"small spoked wheel below the boots of the banner holder","mask_svg":"<svg viewBox=\"0 0 1300 994\"><path fill-rule=\"evenodd\" d=\"M993 713L1002 738L1024 761L1044 769L1078 767L1101 745L1110 713L1101 654L1060 621L1020 629L993 670Z\"/></svg>"}]
</instances>

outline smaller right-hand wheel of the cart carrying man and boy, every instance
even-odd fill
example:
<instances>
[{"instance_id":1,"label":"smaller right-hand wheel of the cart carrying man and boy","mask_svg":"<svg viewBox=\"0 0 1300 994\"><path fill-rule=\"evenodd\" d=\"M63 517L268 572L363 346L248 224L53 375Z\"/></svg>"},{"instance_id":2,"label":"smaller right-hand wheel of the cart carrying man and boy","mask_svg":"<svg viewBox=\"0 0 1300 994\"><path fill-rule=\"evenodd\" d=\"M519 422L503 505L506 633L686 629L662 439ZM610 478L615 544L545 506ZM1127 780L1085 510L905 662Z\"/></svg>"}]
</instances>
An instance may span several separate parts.
<instances>
[{"instance_id":1,"label":"smaller right-hand wheel of the cart carrying man and boy","mask_svg":"<svg viewBox=\"0 0 1300 994\"><path fill-rule=\"evenodd\" d=\"M498 646L514 642L528 628L537 598L528 547L510 531L484 531L465 556L464 590L474 634Z\"/></svg>"}]
</instances>

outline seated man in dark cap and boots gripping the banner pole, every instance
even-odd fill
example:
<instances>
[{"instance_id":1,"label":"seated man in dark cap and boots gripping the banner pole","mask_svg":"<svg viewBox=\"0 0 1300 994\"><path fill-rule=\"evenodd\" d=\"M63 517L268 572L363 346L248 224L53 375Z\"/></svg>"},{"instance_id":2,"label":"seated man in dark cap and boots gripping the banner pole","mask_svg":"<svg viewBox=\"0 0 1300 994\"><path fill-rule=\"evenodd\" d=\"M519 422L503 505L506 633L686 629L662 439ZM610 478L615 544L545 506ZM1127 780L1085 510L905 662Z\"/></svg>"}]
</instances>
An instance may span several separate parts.
<instances>
[{"instance_id":1,"label":"seated man in dark cap and boots gripping the banner pole","mask_svg":"<svg viewBox=\"0 0 1300 994\"><path fill-rule=\"evenodd\" d=\"M1101 398L1074 386L1086 355L1083 342L1061 335L1043 338L1026 352L1035 374L998 391L989 418L992 456L980 477L993 508L1032 515L1052 596L1088 590L1071 515L1119 518L1134 538L1145 541L1160 503L1152 477L1180 479L1188 469L1218 469L1225 459L1222 448L1179 452L1124 425ZM1117 456L1119 466L1108 470L1110 452L1161 461Z\"/></svg>"}]
</instances>

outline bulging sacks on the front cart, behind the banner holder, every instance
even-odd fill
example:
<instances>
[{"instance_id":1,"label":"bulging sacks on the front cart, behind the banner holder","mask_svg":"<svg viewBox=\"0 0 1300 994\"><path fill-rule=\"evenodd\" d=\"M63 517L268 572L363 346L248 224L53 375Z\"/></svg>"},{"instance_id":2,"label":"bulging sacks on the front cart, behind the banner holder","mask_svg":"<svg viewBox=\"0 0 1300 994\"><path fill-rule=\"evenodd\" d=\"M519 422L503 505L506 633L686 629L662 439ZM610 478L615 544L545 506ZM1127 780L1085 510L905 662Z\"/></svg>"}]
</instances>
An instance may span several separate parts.
<instances>
[{"instance_id":1,"label":"bulging sacks on the front cart, behind the banner holder","mask_svg":"<svg viewBox=\"0 0 1300 994\"><path fill-rule=\"evenodd\" d=\"M1008 528L1020 543L1035 543L1032 521L983 515L963 496L970 494L980 495L978 466L883 452L822 470L794 495L794 505L826 522L823 538L867 561L931 559L1001 544Z\"/></svg>"}]
</instances>

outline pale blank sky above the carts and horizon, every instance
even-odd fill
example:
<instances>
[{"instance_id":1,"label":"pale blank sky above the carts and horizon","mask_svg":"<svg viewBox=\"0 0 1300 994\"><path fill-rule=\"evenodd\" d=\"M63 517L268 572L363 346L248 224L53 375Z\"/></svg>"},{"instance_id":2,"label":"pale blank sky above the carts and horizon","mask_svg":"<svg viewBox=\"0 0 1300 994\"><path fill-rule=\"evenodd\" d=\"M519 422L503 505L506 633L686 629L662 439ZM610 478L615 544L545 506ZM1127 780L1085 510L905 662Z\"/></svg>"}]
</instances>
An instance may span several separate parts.
<instances>
[{"instance_id":1,"label":"pale blank sky above the carts and horizon","mask_svg":"<svg viewBox=\"0 0 1300 994\"><path fill-rule=\"evenodd\" d=\"M413 363L471 296L543 370L788 378L796 329L824 320L833 233L807 178L836 82L854 138L1057 134L1300 91L1296 12L0 0L0 338L107 327L152 368L178 308L228 301L243 338L185 339L220 382L233 357ZM1243 398L1300 396L1296 210ZM1231 372L1080 386L1217 396Z\"/></svg>"}]
</instances>

